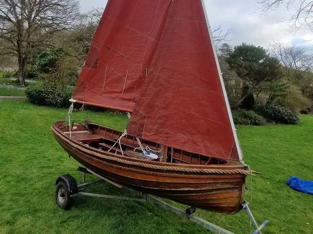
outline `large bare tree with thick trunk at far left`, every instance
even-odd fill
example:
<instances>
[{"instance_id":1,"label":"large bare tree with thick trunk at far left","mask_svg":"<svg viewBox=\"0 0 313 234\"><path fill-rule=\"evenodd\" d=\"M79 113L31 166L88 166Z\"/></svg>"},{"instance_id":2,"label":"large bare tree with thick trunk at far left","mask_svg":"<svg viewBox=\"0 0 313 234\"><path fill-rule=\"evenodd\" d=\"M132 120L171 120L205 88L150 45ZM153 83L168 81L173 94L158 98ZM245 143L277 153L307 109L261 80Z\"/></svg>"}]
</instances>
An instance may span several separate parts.
<instances>
[{"instance_id":1,"label":"large bare tree with thick trunk at far left","mask_svg":"<svg viewBox=\"0 0 313 234\"><path fill-rule=\"evenodd\" d=\"M0 39L18 58L18 80L25 83L26 67L38 47L53 47L52 39L70 28L79 16L77 0L0 0Z\"/></svg>"}]
</instances>

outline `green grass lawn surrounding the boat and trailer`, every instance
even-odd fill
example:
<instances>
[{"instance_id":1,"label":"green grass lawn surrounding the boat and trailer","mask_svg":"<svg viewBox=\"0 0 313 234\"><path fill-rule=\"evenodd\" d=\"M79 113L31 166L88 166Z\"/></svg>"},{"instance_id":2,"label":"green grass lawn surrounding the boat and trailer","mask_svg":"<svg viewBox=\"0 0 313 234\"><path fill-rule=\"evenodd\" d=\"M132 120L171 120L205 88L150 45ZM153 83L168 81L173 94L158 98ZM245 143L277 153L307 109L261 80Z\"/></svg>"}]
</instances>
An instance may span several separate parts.
<instances>
[{"instance_id":1,"label":"green grass lawn surrounding the boat and trailer","mask_svg":"<svg viewBox=\"0 0 313 234\"><path fill-rule=\"evenodd\" d=\"M52 137L50 126L64 119L65 109L38 107L26 101L0 101L0 233L208 234L200 226L152 203L77 197L66 212L55 204L54 183L71 174L78 163ZM126 116L73 113L123 130ZM259 223L270 224L263 234L312 234L313 196L291 190L290 176L313 180L313 117L297 126L238 127L246 163L262 174L249 176L246 199ZM91 176L88 176L91 178ZM92 192L127 192L99 185ZM252 192L252 194L251 194ZM245 212L197 215L236 234L248 234Z\"/></svg>"}]
</instances>

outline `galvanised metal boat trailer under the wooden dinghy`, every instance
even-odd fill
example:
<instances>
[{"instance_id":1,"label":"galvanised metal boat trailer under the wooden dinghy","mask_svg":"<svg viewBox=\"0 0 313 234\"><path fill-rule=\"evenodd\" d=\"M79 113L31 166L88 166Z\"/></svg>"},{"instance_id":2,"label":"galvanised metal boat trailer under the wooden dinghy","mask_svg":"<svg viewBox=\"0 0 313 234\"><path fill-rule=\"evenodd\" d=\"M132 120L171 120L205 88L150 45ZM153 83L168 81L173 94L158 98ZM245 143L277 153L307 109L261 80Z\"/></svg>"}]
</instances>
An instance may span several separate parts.
<instances>
[{"instance_id":1,"label":"galvanised metal boat trailer under the wooden dinghy","mask_svg":"<svg viewBox=\"0 0 313 234\"><path fill-rule=\"evenodd\" d=\"M78 167L77 171L83 173L83 183L80 185L77 185L75 178L73 178L72 176L70 176L68 174L63 175L63 176L59 176L59 178L56 180L56 183L55 183L55 185L56 185L55 199L56 199L57 205L62 209L65 209L65 210L69 209L73 205L73 197L78 196L78 195L95 196L95 197L110 198L110 199L121 199L121 200L125 200L125 201L139 201L139 202L151 201L156 205L159 205L159 206L161 206L167 210L170 210L170 211L176 213L177 215L180 215L182 217L187 218L191 222L194 222L194 223L201 225L202 227L206 228L207 230L209 230L211 232L214 232L217 234L233 234L233 233L225 230L224 228L221 228L221 227L219 227L213 223L210 223L204 219L201 219L201 218L195 216L194 215L196 212L195 207L190 207L190 208L186 209L185 211L183 211L183 210L180 210L179 208L177 208L177 207L175 207L175 206L173 206L173 205L171 205L165 201L158 199L154 195L143 194L143 193L135 191L131 188L127 188L127 187L122 186L120 184L117 184L117 183L115 183L115 182L113 182L113 181L111 181L111 180L109 180L103 176L100 176L100 175L90 171L89 169L86 169L83 167ZM86 174L95 175L98 177L98 179L95 181L86 182ZM89 186L96 185L96 184L103 183L103 182L109 182L118 188L127 188L131 192L133 192L137 195L140 195L141 198L102 195L102 194L91 194L91 193L82 192L83 190L85 190ZM251 220L251 224L255 228L255 231L252 234L262 234L261 230L266 225L268 225L269 221L266 220L263 224L258 226L258 224L257 224L257 222L256 222L256 220L255 220L254 216L252 215L252 212L249 208L249 202L243 203L242 209L247 212L247 214Z\"/></svg>"}]
</instances>

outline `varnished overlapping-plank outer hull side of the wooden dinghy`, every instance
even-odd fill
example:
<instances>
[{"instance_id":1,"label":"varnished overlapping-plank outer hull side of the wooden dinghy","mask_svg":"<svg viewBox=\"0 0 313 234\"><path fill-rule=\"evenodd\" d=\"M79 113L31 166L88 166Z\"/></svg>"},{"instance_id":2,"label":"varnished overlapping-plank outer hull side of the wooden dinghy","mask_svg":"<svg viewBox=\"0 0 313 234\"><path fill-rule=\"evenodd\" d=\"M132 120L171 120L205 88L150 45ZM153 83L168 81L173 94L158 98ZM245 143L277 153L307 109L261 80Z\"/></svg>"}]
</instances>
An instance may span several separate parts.
<instances>
[{"instance_id":1,"label":"varnished overlapping-plank outer hull side of the wooden dinghy","mask_svg":"<svg viewBox=\"0 0 313 234\"><path fill-rule=\"evenodd\" d=\"M101 156L113 156L132 162L145 161L94 149L89 145L72 139L61 130L64 127L62 123L55 123L52 126L52 132L64 150L89 170L113 182L133 188L142 193L168 198L208 211L236 214L241 210L245 192L245 175L165 171L105 159ZM96 156L92 154L93 152L101 154L101 156ZM149 165L170 165L181 168L246 169L242 165L231 162L221 165L187 165L158 161L145 161L145 163Z\"/></svg>"}]
</instances>

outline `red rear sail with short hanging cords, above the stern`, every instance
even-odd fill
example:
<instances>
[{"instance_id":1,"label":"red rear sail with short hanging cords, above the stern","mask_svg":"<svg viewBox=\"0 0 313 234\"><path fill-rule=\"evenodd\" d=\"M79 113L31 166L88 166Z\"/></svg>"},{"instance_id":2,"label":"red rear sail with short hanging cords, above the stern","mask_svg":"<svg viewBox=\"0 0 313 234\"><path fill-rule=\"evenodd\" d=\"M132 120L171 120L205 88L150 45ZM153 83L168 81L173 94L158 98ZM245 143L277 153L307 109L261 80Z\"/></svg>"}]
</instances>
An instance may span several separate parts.
<instances>
[{"instance_id":1,"label":"red rear sail with short hanging cords, above the stern","mask_svg":"<svg viewBox=\"0 0 313 234\"><path fill-rule=\"evenodd\" d=\"M133 111L171 2L109 0L73 94L76 102Z\"/></svg>"}]
</instances>

